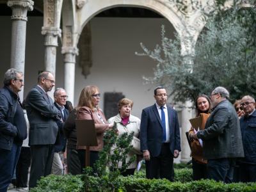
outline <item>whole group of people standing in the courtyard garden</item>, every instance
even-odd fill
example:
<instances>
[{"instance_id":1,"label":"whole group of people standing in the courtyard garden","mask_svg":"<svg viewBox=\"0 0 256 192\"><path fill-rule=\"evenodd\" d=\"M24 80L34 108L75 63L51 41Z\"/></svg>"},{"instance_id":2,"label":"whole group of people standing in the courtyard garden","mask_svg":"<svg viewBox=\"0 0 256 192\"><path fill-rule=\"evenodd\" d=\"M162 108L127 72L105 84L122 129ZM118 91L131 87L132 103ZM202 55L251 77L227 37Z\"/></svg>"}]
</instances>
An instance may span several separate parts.
<instances>
[{"instance_id":1,"label":"whole group of people standing in the courtyard garden","mask_svg":"<svg viewBox=\"0 0 256 192\"><path fill-rule=\"evenodd\" d=\"M68 96L63 88L56 88L54 101L47 95L54 85L51 72L40 73L36 86L25 99L24 111L18 95L24 86L22 72L11 68L4 74L4 87L0 89L0 191L7 190L16 166L20 167L17 162L27 135L31 152L29 188L34 188L42 176L63 174L61 159L66 158L66 149L67 172L81 174L86 147L77 145L76 120L93 120L95 123L97 146L90 147L90 166L99 159L104 132L113 129L115 123L116 134L132 133L136 140L140 140L140 150L131 150L127 162L134 154L138 159L143 157L148 179L173 180L173 158L179 157L181 150L179 121L177 111L166 103L168 94L163 86L154 90L156 102L142 110L141 120L131 115L133 102L127 98L118 102L118 114L106 120L99 108L97 86L83 88L77 107L66 109ZM225 88L215 88L210 97L200 95L196 99L196 116L202 116L202 130L195 132L191 128L189 131L194 179L232 182L234 166L239 163L241 180L255 181L255 100L244 96L236 113ZM242 116L240 122L237 114ZM137 160L122 175L133 175ZM19 170L16 172L19 175ZM22 182L22 187L26 187L27 181Z\"/></svg>"}]
</instances>

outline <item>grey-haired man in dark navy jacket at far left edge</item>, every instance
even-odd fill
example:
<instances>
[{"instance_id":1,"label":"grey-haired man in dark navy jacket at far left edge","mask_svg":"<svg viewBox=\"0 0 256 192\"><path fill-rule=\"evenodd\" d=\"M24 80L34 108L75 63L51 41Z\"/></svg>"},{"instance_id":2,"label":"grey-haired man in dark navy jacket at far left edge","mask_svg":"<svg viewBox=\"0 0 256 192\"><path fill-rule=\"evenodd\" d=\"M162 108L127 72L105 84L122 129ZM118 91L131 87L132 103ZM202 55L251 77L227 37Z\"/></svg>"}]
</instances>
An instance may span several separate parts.
<instances>
[{"instance_id":1,"label":"grey-haired man in dark navy jacket at far left edge","mask_svg":"<svg viewBox=\"0 0 256 192\"><path fill-rule=\"evenodd\" d=\"M0 89L0 191L7 191L20 156L27 125L19 95L23 83L22 72L10 68L4 74Z\"/></svg>"}]
</instances>

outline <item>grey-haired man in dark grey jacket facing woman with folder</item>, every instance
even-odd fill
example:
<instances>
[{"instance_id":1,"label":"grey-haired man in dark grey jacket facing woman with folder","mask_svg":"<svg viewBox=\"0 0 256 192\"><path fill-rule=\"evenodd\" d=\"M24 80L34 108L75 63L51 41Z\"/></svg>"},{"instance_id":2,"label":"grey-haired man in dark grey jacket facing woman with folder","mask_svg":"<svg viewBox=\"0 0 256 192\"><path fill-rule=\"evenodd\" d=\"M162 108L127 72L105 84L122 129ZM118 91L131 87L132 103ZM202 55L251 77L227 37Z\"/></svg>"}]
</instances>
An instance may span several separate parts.
<instances>
[{"instance_id":1,"label":"grey-haired man in dark grey jacket facing woman with folder","mask_svg":"<svg viewBox=\"0 0 256 192\"><path fill-rule=\"evenodd\" d=\"M203 140L208 178L230 183L236 157L244 156L239 118L225 88L218 86L210 97L213 108L205 129L192 134L191 138Z\"/></svg>"}]
</instances>

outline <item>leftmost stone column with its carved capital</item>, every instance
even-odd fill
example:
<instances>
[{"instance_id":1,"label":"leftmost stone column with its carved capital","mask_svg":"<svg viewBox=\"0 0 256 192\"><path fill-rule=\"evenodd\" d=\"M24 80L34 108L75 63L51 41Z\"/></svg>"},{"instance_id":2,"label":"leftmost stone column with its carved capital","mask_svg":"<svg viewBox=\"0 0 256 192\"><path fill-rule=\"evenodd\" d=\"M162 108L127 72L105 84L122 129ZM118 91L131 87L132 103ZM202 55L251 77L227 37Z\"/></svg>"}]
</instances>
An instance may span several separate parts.
<instances>
[{"instance_id":1,"label":"leftmost stone column with its carved capital","mask_svg":"<svg viewBox=\"0 0 256 192\"><path fill-rule=\"evenodd\" d=\"M20 72L25 70L25 47L26 47L26 24L27 12L33 10L34 2L31 0L8 1L7 5L12 8L12 49L11 67ZM23 100L24 90L19 93L20 100Z\"/></svg>"}]
</instances>

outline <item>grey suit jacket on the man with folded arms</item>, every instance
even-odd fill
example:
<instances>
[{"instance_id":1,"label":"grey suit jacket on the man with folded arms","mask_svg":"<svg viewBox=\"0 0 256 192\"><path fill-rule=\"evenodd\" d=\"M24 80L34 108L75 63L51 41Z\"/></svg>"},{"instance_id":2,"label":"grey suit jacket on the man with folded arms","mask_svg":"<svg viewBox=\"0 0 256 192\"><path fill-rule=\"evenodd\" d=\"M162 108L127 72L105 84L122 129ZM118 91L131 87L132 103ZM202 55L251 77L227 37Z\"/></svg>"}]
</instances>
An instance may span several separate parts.
<instances>
[{"instance_id":1,"label":"grey suit jacket on the man with folded arms","mask_svg":"<svg viewBox=\"0 0 256 192\"><path fill-rule=\"evenodd\" d=\"M26 98L26 110L29 120L29 145L54 144L58 134L57 120L60 111L54 106L51 97L35 86Z\"/></svg>"}]
</instances>

